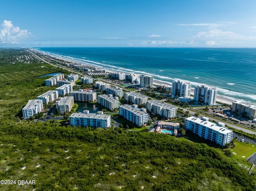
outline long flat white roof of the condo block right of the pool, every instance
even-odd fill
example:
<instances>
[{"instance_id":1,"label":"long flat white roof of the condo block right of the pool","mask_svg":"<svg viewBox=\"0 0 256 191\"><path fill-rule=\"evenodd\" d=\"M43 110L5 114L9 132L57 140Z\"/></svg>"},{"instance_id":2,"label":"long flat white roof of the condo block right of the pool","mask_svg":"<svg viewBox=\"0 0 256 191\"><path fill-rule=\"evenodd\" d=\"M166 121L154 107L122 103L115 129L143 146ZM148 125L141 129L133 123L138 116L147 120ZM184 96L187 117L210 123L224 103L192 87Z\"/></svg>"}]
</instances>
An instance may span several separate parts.
<instances>
[{"instance_id":1,"label":"long flat white roof of the condo block right of the pool","mask_svg":"<svg viewBox=\"0 0 256 191\"><path fill-rule=\"evenodd\" d=\"M232 132L232 130L225 128L223 126L218 126L216 123L210 122L208 120L202 120L202 118L196 118L195 116L191 116L186 118L186 120L190 120L192 122L195 122L197 124L201 124L202 126L206 126L214 131L217 131L221 134L228 134Z\"/></svg>"}]
</instances>

